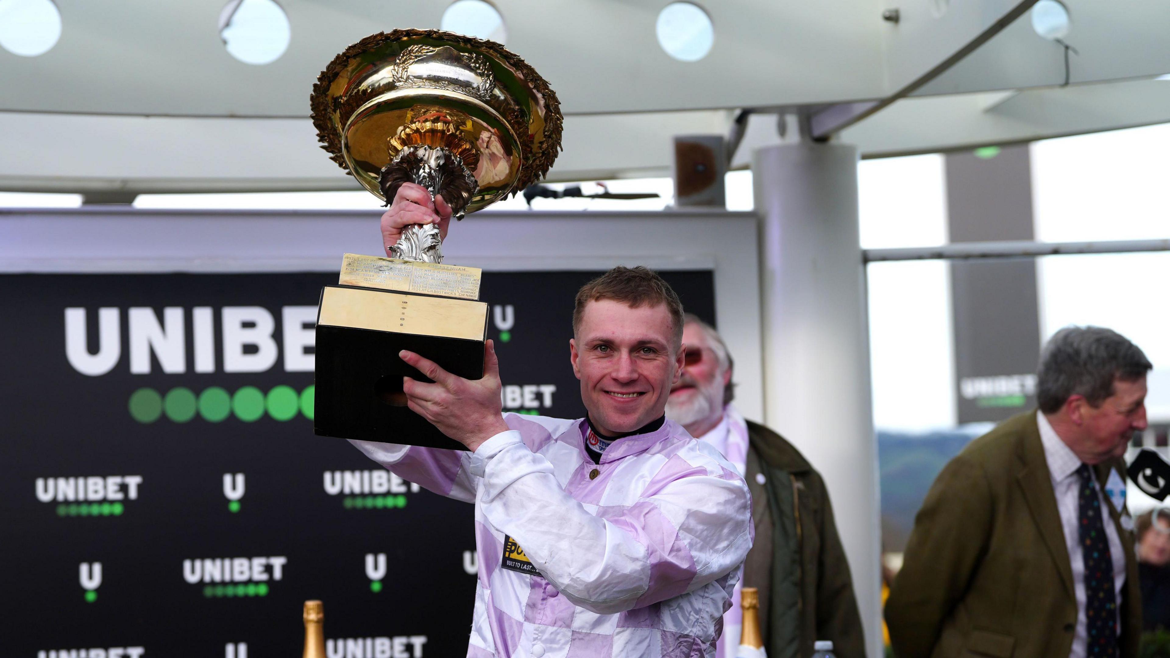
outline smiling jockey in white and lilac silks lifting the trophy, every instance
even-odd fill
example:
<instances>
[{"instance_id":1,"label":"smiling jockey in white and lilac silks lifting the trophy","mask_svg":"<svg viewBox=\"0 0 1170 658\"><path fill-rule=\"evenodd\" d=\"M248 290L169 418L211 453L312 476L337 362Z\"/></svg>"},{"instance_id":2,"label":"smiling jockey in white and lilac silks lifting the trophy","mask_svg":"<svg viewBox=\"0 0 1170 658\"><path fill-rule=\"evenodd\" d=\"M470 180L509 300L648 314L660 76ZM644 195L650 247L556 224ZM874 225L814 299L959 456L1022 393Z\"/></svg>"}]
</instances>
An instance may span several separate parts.
<instances>
[{"instance_id":1,"label":"smiling jockey in white and lilac silks lifting the trophy","mask_svg":"<svg viewBox=\"0 0 1170 658\"><path fill-rule=\"evenodd\" d=\"M384 239L420 219L445 226L429 196L402 190ZM479 381L401 354L434 381L407 378L408 406L467 452L353 444L475 505L468 657L711 657L751 512L735 467L665 418L683 364L682 306L653 272L617 267L580 289L572 320L586 418L502 413L489 342Z\"/></svg>"}]
</instances>

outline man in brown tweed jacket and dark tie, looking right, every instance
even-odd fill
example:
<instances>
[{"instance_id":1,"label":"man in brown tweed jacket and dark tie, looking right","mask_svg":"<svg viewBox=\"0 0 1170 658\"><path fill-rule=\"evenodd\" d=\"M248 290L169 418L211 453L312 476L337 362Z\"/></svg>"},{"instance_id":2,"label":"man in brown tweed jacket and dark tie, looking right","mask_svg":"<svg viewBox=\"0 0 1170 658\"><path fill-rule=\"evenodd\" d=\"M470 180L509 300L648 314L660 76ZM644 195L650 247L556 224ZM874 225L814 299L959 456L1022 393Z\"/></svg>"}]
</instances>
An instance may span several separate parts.
<instances>
[{"instance_id":1,"label":"man in brown tweed jacket and dark tie, looking right","mask_svg":"<svg viewBox=\"0 0 1170 658\"><path fill-rule=\"evenodd\" d=\"M1066 327L1040 355L1039 410L938 474L886 603L900 658L1133 658L1142 632L1122 455L1144 430L1142 350Z\"/></svg>"}]
</instances>

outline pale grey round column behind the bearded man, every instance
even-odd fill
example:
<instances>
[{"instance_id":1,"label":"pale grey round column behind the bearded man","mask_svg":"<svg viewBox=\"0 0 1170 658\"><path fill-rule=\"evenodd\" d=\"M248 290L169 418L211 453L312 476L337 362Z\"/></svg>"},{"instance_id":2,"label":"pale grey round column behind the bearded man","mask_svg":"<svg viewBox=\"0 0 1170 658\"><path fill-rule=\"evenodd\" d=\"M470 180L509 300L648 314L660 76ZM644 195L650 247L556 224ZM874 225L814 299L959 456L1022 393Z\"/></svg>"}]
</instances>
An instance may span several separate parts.
<instances>
[{"instance_id":1,"label":"pale grey round column behind the bearded man","mask_svg":"<svg viewBox=\"0 0 1170 658\"><path fill-rule=\"evenodd\" d=\"M873 427L858 150L755 152L764 411L825 478L870 657L882 654L878 441ZM734 349L734 345L732 345Z\"/></svg>"}]
</instances>

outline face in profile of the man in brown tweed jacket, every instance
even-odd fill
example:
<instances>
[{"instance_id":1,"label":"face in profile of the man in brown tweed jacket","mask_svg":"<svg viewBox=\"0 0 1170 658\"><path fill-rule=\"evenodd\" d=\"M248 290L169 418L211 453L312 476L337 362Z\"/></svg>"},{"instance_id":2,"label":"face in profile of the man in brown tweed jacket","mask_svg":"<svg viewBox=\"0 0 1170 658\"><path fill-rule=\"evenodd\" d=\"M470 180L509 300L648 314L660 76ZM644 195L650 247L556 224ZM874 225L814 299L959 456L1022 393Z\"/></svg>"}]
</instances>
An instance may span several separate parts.
<instances>
[{"instance_id":1,"label":"face in profile of the man in brown tweed jacket","mask_svg":"<svg viewBox=\"0 0 1170 658\"><path fill-rule=\"evenodd\" d=\"M1100 406L1083 398L1073 403L1080 418L1081 446L1078 454L1096 458L1095 464L1126 454L1134 432L1144 430L1145 377L1131 382L1114 379L1113 395Z\"/></svg>"}]
</instances>

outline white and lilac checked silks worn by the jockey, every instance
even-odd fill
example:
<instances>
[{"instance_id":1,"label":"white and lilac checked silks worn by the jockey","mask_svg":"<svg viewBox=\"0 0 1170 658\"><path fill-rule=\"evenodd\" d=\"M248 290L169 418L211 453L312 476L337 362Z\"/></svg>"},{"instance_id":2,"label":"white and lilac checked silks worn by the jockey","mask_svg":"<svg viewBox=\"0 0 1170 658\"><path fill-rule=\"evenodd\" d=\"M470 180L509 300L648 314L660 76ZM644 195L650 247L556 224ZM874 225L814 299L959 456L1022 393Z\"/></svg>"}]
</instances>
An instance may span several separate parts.
<instances>
[{"instance_id":1,"label":"white and lilac checked silks worn by the jockey","mask_svg":"<svg viewBox=\"0 0 1170 658\"><path fill-rule=\"evenodd\" d=\"M584 419L504 420L511 431L474 453L351 441L475 503L468 658L714 657L753 535L735 467L669 420L618 439L598 465ZM501 567L505 534L539 576Z\"/></svg>"}]
</instances>

